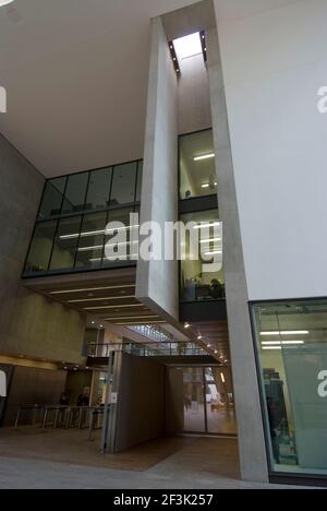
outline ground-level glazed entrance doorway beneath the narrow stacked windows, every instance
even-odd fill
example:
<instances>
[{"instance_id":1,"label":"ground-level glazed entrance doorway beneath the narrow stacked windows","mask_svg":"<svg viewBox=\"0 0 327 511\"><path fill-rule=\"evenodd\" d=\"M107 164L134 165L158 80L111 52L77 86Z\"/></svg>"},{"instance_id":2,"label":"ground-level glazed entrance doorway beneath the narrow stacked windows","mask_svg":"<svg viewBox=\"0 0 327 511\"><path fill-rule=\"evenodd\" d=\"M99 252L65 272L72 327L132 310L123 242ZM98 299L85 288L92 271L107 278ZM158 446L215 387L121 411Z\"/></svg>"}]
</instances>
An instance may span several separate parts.
<instances>
[{"instance_id":1,"label":"ground-level glazed entrance doorway beneath the narrow stacked windows","mask_svg":"<svg viewBox=\"0 0 327 511\"><path fill-rule=\"evenodd\" d=\"M229 367L170 367L167 406L175 432L237 436Z\"/></svg>"}]
</instances>

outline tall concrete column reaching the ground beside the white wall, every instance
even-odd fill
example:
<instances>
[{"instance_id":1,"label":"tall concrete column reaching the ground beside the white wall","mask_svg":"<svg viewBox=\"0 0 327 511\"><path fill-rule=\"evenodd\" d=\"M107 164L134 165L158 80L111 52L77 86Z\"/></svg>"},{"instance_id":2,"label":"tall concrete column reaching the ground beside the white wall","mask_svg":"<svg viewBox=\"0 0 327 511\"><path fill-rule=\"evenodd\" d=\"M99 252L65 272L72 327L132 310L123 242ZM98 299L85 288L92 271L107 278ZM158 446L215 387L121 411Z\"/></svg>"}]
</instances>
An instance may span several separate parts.
<instances>
[{"instance_id":1,"label":"tall concrete column reaching the ground beside the white wall","mask_svg":"<svg viewBox=\"0 0 327 511\"><path fill-rule=\"evenodd\" d=\"M216 28L207 33L208 71L220 219L223 223L226 281L231 363L243 479L268 480L258 380L249 313L247 285L240 230L225 84Z\"/></svg>"}]
</instances>

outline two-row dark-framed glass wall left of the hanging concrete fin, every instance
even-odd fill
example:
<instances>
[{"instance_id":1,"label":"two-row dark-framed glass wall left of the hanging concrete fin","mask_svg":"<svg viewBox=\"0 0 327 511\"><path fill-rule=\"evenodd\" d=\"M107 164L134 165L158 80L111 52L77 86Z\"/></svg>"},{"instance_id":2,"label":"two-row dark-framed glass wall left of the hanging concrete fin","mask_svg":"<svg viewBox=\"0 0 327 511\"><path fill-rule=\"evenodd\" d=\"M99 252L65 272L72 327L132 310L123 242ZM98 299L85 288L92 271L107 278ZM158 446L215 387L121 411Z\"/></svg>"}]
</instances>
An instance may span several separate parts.
<instances>
[{"instance_id":1,"label":"two-row dark-framed glass wall left of the hanging concrete fin","mask_svg":"<svg viewBox=\"0 0 327 511\"><path fill-rule=\"evenodd\" d=\"M132 249L125 261L107 260L105 234L108 222L129 226L130 213L140 211L142 174L140 161L48 180L24 276L135 264Z\"/></svg>"}]
</instances>

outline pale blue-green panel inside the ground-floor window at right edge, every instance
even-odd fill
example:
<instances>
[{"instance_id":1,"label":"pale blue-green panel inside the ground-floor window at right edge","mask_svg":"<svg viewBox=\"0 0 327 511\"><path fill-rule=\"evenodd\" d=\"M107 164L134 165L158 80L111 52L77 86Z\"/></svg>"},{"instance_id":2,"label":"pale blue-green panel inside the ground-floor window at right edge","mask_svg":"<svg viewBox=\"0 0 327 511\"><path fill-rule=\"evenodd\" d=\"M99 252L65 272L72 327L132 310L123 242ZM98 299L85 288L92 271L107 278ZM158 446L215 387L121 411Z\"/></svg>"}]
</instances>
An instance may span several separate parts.
<instances>
[{"instance_id":1,"label":"pale blue-green panel inside the ground-floor window at right edge","mask_svg":"<svg viewBox=\"0 0 327 511\"><path fill-rule=\"evenodd\" d=\"M299 465L327 467L327 345L283 349Z\"/></svg>"}]
</instances>

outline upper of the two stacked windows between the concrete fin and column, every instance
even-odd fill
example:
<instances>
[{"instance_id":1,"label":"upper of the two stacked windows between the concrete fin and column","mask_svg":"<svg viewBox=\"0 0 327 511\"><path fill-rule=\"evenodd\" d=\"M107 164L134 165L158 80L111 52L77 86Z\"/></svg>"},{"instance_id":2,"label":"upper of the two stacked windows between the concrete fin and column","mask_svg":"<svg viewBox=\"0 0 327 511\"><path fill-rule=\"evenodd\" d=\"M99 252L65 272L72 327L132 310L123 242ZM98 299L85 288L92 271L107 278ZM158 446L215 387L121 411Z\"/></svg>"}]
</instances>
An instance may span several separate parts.
<instances>
[{"instance_id":1,"label":"upper of the two stacked windows between the concrete fin and column","mask_svg":"<svg viewBox=\"0 0 327 511\"><path fill-rule=\"evenodd\" d=\"M213 130L180 138L180 198L214 195L217 176Z\"/></svg>"}]
</instances>

